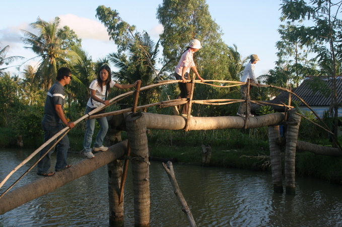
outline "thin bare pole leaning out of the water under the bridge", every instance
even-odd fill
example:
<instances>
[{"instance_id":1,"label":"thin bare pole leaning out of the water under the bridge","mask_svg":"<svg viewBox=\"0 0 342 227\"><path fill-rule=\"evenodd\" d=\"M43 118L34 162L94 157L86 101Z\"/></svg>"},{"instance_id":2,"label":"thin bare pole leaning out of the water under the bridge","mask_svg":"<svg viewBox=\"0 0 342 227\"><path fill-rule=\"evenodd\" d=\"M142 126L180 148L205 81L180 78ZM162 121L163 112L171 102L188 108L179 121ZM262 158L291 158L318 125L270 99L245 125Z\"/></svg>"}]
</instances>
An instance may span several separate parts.
<instances>
[{"instance_id":1,"label":"thin bare pole leaning out of the water under the bridge","mask_svg":"<svg viewBox=\"0 0 342 227\"><path fill-rule=\"evenodd\" d=\"M182 194L182 192L180 191L180 188L178 186L176 177L175 177L175 172L173 171L173 166L172 163L169 161L167 162L167 164L165 165L165 163L163 163L163 167L171 181L172 184L172 188L173 188L173 192L176 194L178 201L180 202L181 206L182 206L182 211L186 214L189 222L190 222L190 226L191 227L196 227L196 223L195 220L193 219L192 213L185 201L185 198Z\"/></svg>"}]
</instances>

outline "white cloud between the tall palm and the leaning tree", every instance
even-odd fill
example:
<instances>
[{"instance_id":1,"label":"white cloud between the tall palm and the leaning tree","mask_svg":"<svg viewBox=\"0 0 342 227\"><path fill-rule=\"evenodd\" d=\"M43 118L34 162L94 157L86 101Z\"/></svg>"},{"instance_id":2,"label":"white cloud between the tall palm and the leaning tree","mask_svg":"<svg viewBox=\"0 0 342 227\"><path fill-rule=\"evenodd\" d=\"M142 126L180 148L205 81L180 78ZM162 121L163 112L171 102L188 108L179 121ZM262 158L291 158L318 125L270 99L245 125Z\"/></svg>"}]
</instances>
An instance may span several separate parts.
<instances>
[{"instance_id":1,"label":"white cloud between the tall palm and the leaning tree","mask_svg":"<svg viewBox=\"0 0 342 227\"><path fill-rule=\"evenodd\" d=\"M109 41L109 36L106 28L100 22L78 17L73 14L66 14L58 16L61 20L60 25L69 26L82 39L94 39Z\"/></svg>"}]
</instances>

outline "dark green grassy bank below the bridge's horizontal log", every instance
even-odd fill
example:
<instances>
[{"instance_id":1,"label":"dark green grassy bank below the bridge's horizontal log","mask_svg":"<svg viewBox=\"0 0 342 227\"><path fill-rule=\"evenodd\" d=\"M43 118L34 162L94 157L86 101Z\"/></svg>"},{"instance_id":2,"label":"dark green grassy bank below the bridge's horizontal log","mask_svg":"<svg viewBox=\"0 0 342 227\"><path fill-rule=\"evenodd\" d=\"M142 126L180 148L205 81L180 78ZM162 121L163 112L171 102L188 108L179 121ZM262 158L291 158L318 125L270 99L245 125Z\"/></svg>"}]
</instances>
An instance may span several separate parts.
<instances>
[{"instance_id":1,"label":"dark green grassy bank below the bridge's horizontal log","mask_svg":"<svg viewBox=\"0 0 342 227\"><path fill-rule=\"evenodd\" d=\"M271 172L268 138L265 138L264 130L151 130L148 134L150 155L176 158L180 163L201 163L201 144L204 144L212 147L211 166ZM342 184L342 158L297 152L296 175Z\"/></svg>"}]
</instances>

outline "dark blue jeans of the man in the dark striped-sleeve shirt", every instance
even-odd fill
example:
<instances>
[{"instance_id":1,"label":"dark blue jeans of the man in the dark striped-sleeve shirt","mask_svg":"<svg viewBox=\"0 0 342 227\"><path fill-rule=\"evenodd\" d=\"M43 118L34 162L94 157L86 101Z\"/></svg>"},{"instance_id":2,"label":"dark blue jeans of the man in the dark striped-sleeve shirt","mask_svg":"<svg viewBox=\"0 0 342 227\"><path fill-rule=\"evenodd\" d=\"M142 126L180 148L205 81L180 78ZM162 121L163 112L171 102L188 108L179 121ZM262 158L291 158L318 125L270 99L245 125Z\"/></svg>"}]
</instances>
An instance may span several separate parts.
<instances>
[{"instance_id":1,"label":"dark blue jeans of the man in the dark striped-sleeve shirt","mask_svg":"<svg viewBox=\"0 0 342 227\"><path fill-rule=\"evenodd\" d=\"M64 127L62 124L58 124L56 126L51 126L46 123L42 123L42 127L44 130L44 142L49 140L52 136L54 136L57 132L62 130ZM60 136L59 136L60 137ZM58 137L58 138L59 138ZM47 150L56 142L57 138L55 138L49 145L45 146L42 150L40 150L40 157L47 152ZM67 149L69 148L69 138L65 135L58 143L57 143L57 154L56 154L56 165L55 170L62 170L67 165L66 156ZM38 163L38 173L45 174L49 172L51 165L51 154L54 152L53 147L50 152L44 156L42 160Z\"/></svg>"}]
</instances>

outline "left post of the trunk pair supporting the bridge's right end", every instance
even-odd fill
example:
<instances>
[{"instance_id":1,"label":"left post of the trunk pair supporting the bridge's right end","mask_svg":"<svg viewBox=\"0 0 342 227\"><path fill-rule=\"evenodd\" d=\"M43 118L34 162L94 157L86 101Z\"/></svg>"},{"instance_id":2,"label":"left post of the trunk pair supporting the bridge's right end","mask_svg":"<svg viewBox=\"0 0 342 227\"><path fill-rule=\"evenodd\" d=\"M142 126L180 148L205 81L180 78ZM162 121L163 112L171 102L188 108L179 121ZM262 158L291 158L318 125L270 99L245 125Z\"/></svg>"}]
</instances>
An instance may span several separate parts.
<instances>
[{"instance_id":1,"label":"left post of the trunk pair supporting the bridge's right end","mask_svg":"<svg viewBox=\"0 0 342 227\"><path fill-rule=\"evenodd\" d=\"M271 158L273 191L283 193L282 159L277 138L280 137L279 125L268 126L269 153Z\"/></svg>"}]
</instances>

